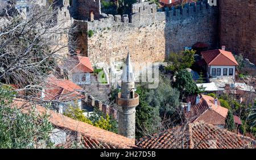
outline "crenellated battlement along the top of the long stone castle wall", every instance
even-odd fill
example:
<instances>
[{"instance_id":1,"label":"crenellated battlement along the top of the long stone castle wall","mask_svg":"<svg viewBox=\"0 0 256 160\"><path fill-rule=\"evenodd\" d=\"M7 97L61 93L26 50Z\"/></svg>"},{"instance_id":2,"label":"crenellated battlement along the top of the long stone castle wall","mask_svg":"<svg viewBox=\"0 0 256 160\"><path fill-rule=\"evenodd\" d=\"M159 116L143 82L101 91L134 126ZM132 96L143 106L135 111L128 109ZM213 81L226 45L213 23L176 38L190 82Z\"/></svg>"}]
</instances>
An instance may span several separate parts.
<instances>
[{"instance_id":1,"label":"crenellated battlement along the top of the long stone castle wall","mask_svg":"<svg viewBox=\"0 0 256 160\"><path fill-rule=\"evenodd\" d=\"M134 3L132 5L132 14L130 15L106 15L101 14L100 19L88 22L88 27L104 28L112 27L121 23L130 26L144 26L147 24L162 22L163 20L185 20L197 15L208 14L217 10L216 6L209 6L207 0L195 3L187 3L184 6L165 7L156 9L156 4L149 2ZM91 26L91 27L90 27Z\"/></svg>"}]
</instances>

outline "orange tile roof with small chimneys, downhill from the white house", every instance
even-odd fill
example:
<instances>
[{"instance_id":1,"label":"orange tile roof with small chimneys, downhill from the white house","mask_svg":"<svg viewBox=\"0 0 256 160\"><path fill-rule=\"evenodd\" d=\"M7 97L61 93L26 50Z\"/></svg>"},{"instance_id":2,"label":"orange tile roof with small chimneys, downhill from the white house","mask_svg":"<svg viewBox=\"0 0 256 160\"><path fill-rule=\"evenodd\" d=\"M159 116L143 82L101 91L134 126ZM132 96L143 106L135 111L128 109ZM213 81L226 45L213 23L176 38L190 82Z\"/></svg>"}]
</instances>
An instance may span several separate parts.
<instances>
[{"instance_id":1,"label":"orange tile roof with small chimneys, downhill from the white house","mask_svg":"<svg viewBox=\"0 0 256 160\"><path fill-rule=\"evenodd\" d=\"M228 109L221 107L220 102L215 106L214 98L201 95L200 102L196 104L196 95L188 96L187 102L191 102L191 111L184 110L187 121L205 121L213 125L225 125Z\"/></svg>"}]
</instances>

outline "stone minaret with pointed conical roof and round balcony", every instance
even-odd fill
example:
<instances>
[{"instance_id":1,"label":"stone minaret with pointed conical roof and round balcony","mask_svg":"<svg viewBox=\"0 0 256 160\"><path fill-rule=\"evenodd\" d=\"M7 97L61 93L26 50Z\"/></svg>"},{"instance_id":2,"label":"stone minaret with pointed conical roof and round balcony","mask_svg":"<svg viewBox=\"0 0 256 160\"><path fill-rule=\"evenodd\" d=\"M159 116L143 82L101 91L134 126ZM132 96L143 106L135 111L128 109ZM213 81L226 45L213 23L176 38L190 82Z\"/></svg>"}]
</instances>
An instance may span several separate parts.
<instances>
[{"instance_id":1,"label":"stone minaret with pointed conical roof and round balcony","mask_svg":"<svg viewBox=\"0 0 256 160\"><path fill-rule=\"evenodd\" d=\"M135 107L139 105L139 95L134 92L134 74L130 54L123 66L121 92L117 96L118 134L135 138Z\"/></svg>"}]
</instances>

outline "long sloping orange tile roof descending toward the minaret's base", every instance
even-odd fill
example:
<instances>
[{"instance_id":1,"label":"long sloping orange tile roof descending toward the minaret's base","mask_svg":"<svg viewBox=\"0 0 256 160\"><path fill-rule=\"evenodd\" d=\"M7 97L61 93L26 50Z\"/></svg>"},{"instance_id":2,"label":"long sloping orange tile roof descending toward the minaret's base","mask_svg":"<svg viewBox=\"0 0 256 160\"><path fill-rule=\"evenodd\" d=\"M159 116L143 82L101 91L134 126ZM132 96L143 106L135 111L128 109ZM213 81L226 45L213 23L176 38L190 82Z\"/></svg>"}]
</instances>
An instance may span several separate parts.
<instances>
[{"instance_id":1,"label":"long sloping orange tile roof descending toward the minaret's base","mask_svg":"<svg viewBox=\"0 0 256 160\"><path fill-rule=\"evenodd\" d=\"M31 103L24 99L15 98L13 103L18 107L26 105L24 108L22 107L23 112L27 112L31 108ZM38 104L36 104L36 110L38 110L40 113L49 111L51 115L49 117L49 121L51 121L53 125L56 125L60 128L79 132L83 136L90 137L101 142L107 142L109 145L116 146L117 148L136 148L135 140L133 139L109 132L108 130L94 127L93 125L78 120L71 119L67 116L61 115L60 113L47 110Z\"/></svg>"}]
</instances>

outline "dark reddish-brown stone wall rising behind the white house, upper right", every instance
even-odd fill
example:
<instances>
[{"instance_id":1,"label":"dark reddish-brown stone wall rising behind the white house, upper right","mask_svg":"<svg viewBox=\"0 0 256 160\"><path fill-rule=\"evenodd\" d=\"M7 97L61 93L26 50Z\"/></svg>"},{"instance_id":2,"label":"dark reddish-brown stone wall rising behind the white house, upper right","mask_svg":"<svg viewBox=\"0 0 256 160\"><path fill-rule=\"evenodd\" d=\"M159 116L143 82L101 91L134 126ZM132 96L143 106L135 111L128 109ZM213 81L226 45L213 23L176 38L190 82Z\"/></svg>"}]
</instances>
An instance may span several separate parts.
<instances>
[{"instance_id":1,"label":"dark reddish-brown stone wall rising behind the white house, upper right","mask_svg":"<svg viewBox=\"0 0 256 160\"><path fill-rule=\"evenodd\" d=\"M220 45L256 63L256 0L221 0Z\"/></svg>"}]
</instances>

